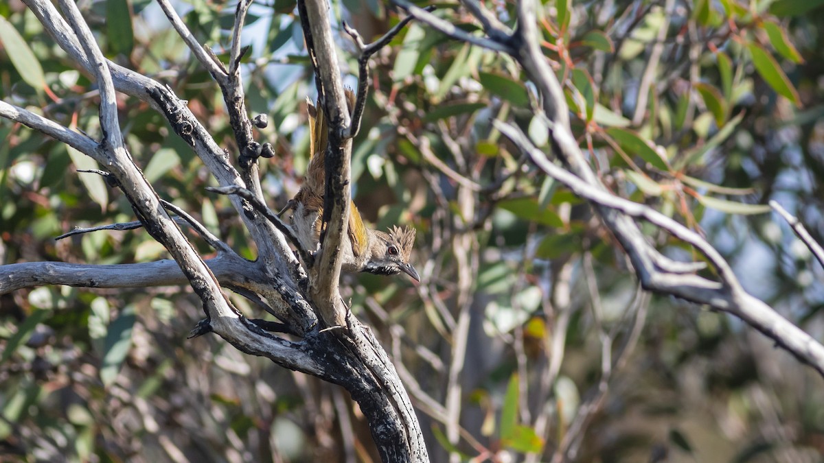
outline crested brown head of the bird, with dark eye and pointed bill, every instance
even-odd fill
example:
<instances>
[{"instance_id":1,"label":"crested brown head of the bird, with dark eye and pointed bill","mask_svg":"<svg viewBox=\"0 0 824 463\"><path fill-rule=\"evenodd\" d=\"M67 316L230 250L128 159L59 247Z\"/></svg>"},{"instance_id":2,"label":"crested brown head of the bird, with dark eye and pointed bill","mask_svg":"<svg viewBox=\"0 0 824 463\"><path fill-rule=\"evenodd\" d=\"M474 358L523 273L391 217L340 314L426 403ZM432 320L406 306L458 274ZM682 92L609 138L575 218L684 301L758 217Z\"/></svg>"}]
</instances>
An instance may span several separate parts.
<instances>
[{"instance_id":1,"label":"crested brown head of the bird, with dark eye and pointed bill","mask_svg":"<svg viewBox=\"0 0 824 463\"><path fill-rule=\"evenodd\" d=\"M396 275L403 272L420 281L418 272L410 264L415 229L392 227L389 233L369 230L369 255L362 272L376 275Z\"/></svg>"}]
</instances>

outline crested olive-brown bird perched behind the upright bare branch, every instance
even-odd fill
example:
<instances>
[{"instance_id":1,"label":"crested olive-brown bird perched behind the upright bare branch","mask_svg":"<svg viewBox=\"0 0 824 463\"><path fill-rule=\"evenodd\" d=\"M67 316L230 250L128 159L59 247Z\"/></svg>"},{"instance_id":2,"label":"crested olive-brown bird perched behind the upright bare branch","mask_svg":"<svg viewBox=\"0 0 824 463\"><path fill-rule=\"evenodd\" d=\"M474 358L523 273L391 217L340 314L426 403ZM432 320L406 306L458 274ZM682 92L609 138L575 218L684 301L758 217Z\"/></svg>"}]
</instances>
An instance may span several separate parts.
<instances>
[{"instance_id":1,"label":"crested olive-brown bird perched behind the upright bare branch","mask_svg":"<svg viewBox=\"0 0 824 463\"><path fill-rule=\"evenodd\" d=\"M349 109L354 95L346 90ZM307 97L309 119L309 166L303 184L285 210L292 210L292 227L298 241L307 250L317 250L324 226L323 194L325 188L325 152L328 143L328 124L318 99L313 105ZM342 243L341 269L346 273L366 272L377 275L404 273L420 281L418 271L410 263L415 229L391 227L386 232L373 230L363 222L358 208L349 203L349 232Z\"/></svg>"}]
</instances>

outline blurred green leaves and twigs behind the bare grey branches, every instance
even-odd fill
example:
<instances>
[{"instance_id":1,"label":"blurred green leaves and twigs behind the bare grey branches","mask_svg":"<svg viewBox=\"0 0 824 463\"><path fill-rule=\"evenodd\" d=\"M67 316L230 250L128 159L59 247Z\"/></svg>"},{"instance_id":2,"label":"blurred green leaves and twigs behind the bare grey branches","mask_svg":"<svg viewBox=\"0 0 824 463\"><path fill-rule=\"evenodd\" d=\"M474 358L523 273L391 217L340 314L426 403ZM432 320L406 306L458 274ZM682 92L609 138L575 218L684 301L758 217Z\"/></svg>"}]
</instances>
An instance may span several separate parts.
<instances>
[{"instance_id":1,"label":"blurred green leaves and twigs behind the bare grey branches","mask_svg":"<svg viewBox=\"0 0 824 463\"><path fill-rule=\"evenodd\" d=\"M573 129L612 191L700 230L745 288L824 339L824 272L765 203L824 232L824 8L770 0L542 0L542 45ZM149 0L81 2L107 57L166 82L237 156L220 91ZM514 26L513 2L486 6ZM181 0L186 24L226 58L235 2ZM333 0L339 56L399 20L376 0ZM437 14L477 30L456 2ZM242 68L269 206L307 163L316 97L296 7L255 2ZM0 96L99 133L96 87L19 0L0 3ZM344 297L409 387L433 461L821 461L822 378L740 320L644 294L588 206L492 128L546 147L513 61L412 23L372 59L353 197L379 227L418 229L423 283L344 276ZM255 249L190 148L121 96L126 142L164 199L242 255ZM164 259L142 230L54 241L135 219L94 161L0 121L0 262ZM691 249L644 227L667 255ZM199 249L211 251L190 235ZM242 298L233 302L262 317ZM368 427L337 386L186 340L188 288L33 288L0 296L2 461L373 461ZM460 424L460 430L456 424ZM457 435L456 435L457 433Z\"/></svg>"}]
</instances>

